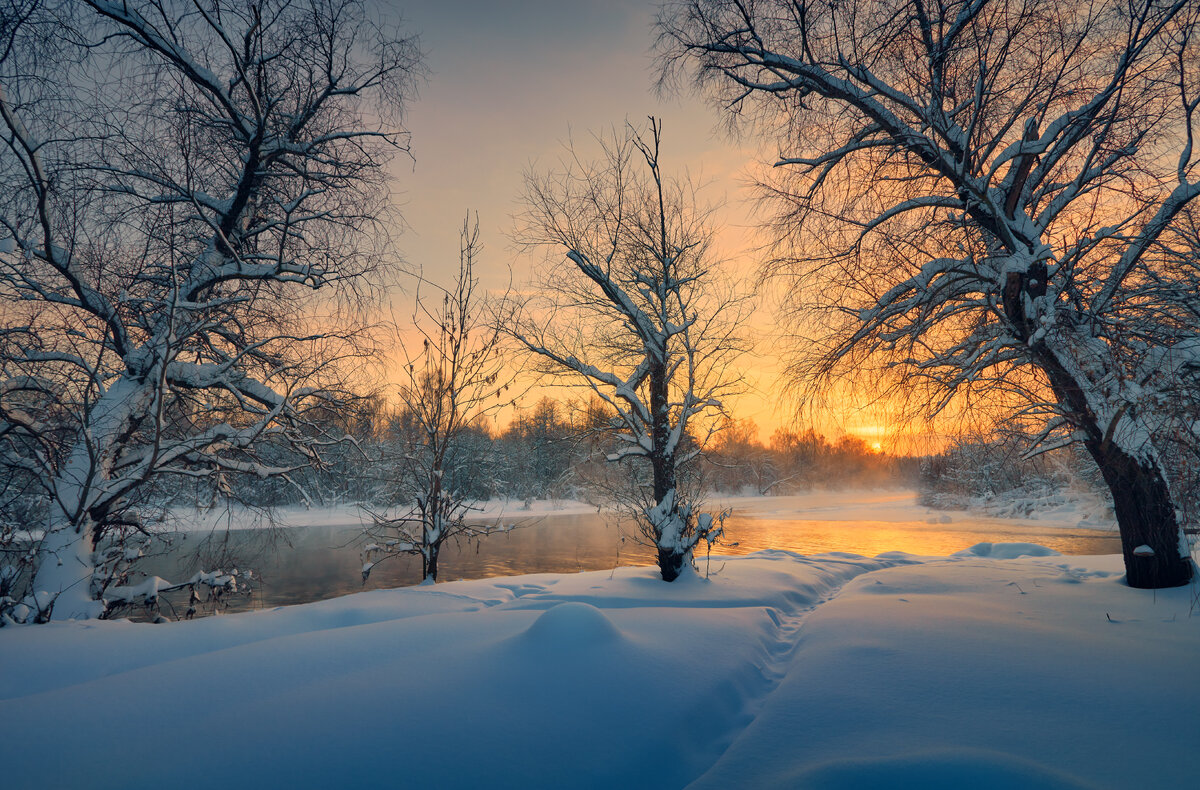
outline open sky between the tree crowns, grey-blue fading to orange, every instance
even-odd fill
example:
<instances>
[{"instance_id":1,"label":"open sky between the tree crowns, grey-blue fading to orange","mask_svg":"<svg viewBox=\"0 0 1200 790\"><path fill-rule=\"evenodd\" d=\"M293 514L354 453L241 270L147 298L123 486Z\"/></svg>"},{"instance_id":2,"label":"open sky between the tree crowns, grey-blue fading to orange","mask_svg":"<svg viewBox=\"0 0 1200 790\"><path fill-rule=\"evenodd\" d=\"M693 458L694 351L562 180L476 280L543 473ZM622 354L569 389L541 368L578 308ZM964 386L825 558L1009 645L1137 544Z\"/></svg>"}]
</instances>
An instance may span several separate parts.
<instances>
[{"instance_id":1,"label":"open sky between the tree crowns, grey-blue fading to orange","mask_svg":"<svg viewBox=\"0 0 1200 790\"><path fill-rule=\"evenodd\" d=\"M528 279L534 258L518 256L509 234L520 213L523 175L552 168L574 140L594 151L592 134L626 119L664 122L664 167L706 184L703 197L724 203L720 252L739 275L755 268L752 191L748 168L760 157L754 140L730 138L715 109L690 94L659 95L652 48L655 4L635 0L380 0L380 14L403 19L420 36L428 80L412 103L407 125L413 158L394 163L395 201L407 223L400 238L409 264L445 282L457 267L458 231L479 214L481 282L503 287ZM407 316L410 297L398 297ZM770 348L774 317L764 301L755 330ZM758 352L742 369L749 391L732 403L763 439L791 420L775 381L780 360ZM850 431L878 441L870 415L824 419L824 432Z\"/></svg>"}]
</instances>

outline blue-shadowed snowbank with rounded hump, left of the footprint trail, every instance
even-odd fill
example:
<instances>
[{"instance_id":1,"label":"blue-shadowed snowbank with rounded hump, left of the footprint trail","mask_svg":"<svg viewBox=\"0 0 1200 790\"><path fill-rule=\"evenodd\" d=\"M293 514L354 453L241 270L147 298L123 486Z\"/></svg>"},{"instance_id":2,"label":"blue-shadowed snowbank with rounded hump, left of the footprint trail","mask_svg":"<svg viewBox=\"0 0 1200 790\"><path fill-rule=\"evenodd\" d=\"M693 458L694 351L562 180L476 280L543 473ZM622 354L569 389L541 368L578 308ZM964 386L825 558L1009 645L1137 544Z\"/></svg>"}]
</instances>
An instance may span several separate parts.
<instances>
[{"instance_id":1,"label":"blue-shadowed snowbank with rounded hump, left of the footprint trail","mask_svg":"<svg viewBox=\"0 0 1200 790\"><path fill-rule=\"evenodd\" d=\"M5 786L682 786L769 690L780 624L887 564L778 552L670 586L623 568L5 629Z\"/></svg>"}]
</instances>

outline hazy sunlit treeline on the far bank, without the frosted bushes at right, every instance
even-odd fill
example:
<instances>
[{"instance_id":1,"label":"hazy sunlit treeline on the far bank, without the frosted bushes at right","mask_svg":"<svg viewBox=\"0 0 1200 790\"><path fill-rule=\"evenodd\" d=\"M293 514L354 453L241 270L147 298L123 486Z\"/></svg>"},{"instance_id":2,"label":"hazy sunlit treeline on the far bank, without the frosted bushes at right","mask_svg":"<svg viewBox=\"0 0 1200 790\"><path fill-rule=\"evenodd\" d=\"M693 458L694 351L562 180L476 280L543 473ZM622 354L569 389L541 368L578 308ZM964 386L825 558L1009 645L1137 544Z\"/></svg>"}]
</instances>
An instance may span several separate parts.
<instances>
[{"instance_id":1,"label":"hazy sunlit treeline on the far bank, without the frosted bushes at right","mask_svg":"<svg viewBox=\"0 0 1200 790\"><path fill-rule=\"evenodd\" d=\"M558 401L542 397L517 408L497 426L476 420L451 448L446 485L467 499L580 499L606 504L629 478L623 466L606 459L616 450L610 420L598 400ZM408 490L397 466L421 442L413 415L380 397L361 400L349 411L330 411L323 430L343 439L329 443L318 460L288 475L200 478L160 487L160 501L205 507L232 497L251 505L361 503L404 507ZM685 443L696 447L689 436ZM874 450L863 439L844 435L830 439L814 429L779 429L763 442L750 420L730 420L708 438L704 451L689 465L689 483L715 493L796 493L820 487L911 486L920 477L922 459ZM280 445L272 461L300 466L293 450Z\"/></svg>"}]
</instances>

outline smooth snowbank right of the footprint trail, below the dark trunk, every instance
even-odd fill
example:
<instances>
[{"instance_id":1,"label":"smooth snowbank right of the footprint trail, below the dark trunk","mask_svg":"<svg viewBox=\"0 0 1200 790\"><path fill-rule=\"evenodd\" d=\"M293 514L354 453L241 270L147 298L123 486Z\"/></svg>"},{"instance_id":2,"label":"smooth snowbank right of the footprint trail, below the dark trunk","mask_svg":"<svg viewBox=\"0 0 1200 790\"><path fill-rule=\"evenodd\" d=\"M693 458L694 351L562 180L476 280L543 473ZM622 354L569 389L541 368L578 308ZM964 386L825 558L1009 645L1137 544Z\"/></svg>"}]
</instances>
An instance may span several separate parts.
<instances>
[{"instance_id":1,"label":"smooth snowbank right of the footprint trail, below the dark trunk","mask_svg":"<svg viewBox=\"0 0 1200 790\"><path fill-rule=\"evenodd\" d=\"M1194 786L1196 591L1121 575L1055 557L860 576L692 786Z\"/></svg>"}]
</instances>

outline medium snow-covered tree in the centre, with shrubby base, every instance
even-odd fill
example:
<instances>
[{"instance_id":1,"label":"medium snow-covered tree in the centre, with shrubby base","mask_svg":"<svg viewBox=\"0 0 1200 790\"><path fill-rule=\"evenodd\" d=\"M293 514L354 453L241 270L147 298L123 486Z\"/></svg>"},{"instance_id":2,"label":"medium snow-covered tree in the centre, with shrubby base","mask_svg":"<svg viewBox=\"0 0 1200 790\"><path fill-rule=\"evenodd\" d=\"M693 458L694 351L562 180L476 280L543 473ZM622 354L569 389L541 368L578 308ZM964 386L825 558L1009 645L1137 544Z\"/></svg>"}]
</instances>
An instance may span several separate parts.
<instances>
[{"instance_id":1,"label":"medium snow-covered tree in the centre, with shrubby base","mask_svg":"<svg viewBox=\"0 0 1200 790\"><path fill-rule=\"evenodd\" d=\"M720 277L694 187L662 174L660 140L652 118L647 136L626 126L604 142L598 163L572 152L560 172L527 178L520 239L552 263L515 334L546 372L608 406L610 461L649 467L623 504L673 581L721 532L680 471L702 445L691 432L712 430L736 384L743 303Z\"/></svg>"}]
</instances>

